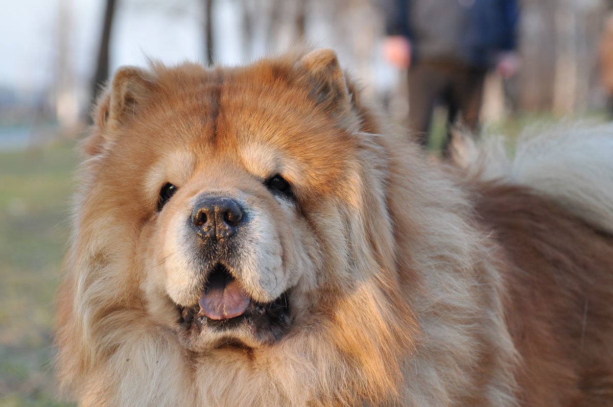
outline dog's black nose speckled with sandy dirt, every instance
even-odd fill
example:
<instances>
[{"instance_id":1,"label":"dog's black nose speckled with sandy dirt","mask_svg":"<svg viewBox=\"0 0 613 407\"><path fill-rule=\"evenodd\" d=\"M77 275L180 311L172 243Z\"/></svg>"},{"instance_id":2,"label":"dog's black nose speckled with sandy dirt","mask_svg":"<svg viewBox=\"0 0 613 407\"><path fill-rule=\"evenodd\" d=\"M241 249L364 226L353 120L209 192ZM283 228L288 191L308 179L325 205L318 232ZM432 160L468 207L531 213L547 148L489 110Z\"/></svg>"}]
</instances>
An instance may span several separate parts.
<instances>
[{"instance_id":1,"label":"dog's black nose speckled with sandy dirt","mask_svg":"<svg viewBox=\"0 0 613 407\"><path fill-rule=\"evenodd\" d=\"M200 237L219 240L235 234L244 220L243 215L234 199L206 196L194 207L191 222Z\"/></svg>"}]
</instances>

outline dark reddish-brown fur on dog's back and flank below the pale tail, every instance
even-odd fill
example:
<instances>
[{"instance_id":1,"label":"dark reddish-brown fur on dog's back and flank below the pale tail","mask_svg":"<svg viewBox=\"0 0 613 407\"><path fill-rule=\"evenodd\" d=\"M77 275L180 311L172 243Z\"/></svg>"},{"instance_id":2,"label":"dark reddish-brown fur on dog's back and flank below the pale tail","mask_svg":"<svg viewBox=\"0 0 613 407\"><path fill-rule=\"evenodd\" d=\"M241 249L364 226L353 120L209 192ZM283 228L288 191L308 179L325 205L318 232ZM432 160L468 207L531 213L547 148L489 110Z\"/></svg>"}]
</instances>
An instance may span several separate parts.
<instances>
[{"instance_id":1,"label":"dark reddish-brown fur on dog's back and flank below the pale tail","mask_svg":"<svg viewBox=\"0 0 613 407\"><path fill-rule=\"evenodd\" d=\"M529 189L481 192L476 210L503 252L520 404L611 405L613 238Z\"/></svg>"}]
</instances>

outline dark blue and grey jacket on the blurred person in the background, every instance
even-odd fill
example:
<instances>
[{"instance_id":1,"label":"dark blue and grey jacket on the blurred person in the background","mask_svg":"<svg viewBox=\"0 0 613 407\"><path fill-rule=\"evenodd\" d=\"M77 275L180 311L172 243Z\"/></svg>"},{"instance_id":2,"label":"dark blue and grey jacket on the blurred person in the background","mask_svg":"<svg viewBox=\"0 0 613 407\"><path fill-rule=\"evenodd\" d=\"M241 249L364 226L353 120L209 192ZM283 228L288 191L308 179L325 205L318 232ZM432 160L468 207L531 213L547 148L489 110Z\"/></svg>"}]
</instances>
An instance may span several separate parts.
<instances>
[{"instance_id":1,"label":"dark blue and grey jacket on the blurred person in the background","mask_svg":"<svg viewBox=\"0 0 613 407\"><path fill-rule=\"evenodd\" d=\"M411 40L414 61L489 67L516 47L516 0L384 0L388 35Z\"/></svg>"}]
</instances>

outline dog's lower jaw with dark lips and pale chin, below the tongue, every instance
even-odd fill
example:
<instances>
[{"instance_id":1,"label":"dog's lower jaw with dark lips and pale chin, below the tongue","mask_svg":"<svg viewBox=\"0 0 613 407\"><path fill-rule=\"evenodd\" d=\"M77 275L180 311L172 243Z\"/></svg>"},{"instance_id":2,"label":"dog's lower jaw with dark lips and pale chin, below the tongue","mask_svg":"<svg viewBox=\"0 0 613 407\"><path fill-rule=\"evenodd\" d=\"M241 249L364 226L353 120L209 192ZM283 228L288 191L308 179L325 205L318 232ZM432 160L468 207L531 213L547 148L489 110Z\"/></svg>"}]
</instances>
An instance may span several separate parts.
<instances>
[{"instance_id":1,"label":"dog's lower jaw with dark lips and pale chin, below the tongue","mask_svg":"<svg viewBox=\"0 0 613 407\"><path fill-rule=\"evenodd\" d=\"M226 275L218 277L216 279L218 281L223 278L233 279L224 271L213 274L215 273ZM209 280L215 280L215 277L210 276ZM207 292L207 286L203 292ZM253 349L271 346L289 331L291 323L289 297L288 290L268 303L243 298L245 303L239 308L240 314L236 312L211 314L201 298L198 303L191 306L177 305L178 318L175 329L181 344L196 352L226 347Z\"/></svg>"}]
</instances>

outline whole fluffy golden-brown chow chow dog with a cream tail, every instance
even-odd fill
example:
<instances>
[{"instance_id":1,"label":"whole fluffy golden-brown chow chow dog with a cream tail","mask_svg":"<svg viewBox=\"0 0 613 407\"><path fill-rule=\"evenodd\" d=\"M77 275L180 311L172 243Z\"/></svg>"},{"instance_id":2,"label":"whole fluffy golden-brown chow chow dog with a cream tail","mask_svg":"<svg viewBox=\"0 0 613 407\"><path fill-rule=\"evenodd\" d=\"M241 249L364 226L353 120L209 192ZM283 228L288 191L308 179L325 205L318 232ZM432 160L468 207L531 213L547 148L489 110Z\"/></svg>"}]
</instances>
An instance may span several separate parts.
<instances>
[{"instance_id":1,"label":"whole fluffy golden-brown chow chow dog with a cream tail","mask_svg":"<svg viewBox=\"0 0 613 407\"><path fill-rule=\"evenodd\" d=\"M118 70L58 296L70 397L613 405L613 126L452 166L386 121L332 50Z\"/></svg>"}]
</instances>

